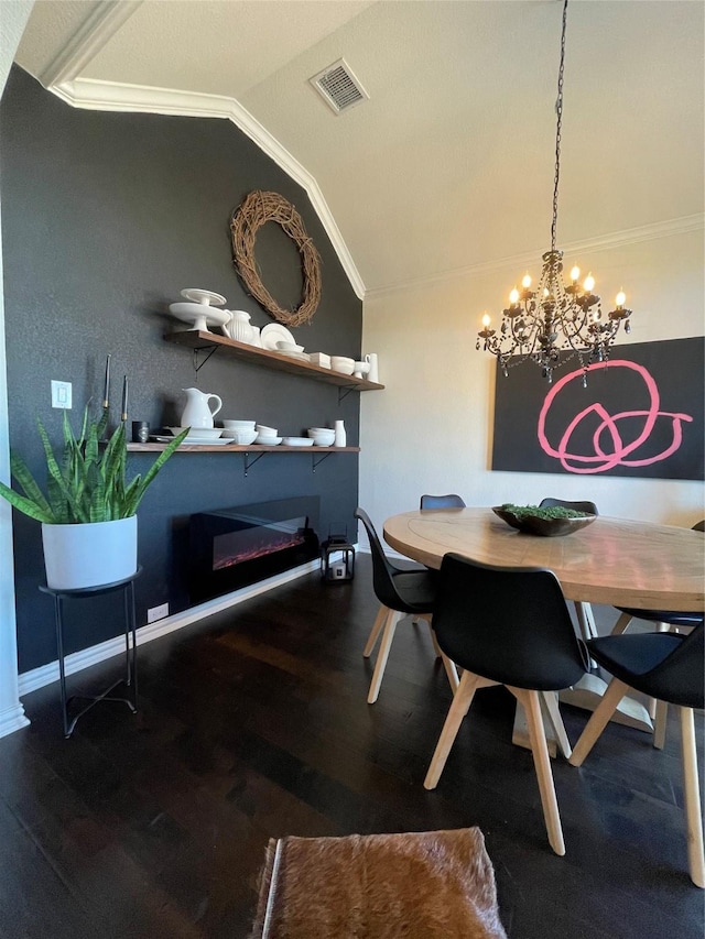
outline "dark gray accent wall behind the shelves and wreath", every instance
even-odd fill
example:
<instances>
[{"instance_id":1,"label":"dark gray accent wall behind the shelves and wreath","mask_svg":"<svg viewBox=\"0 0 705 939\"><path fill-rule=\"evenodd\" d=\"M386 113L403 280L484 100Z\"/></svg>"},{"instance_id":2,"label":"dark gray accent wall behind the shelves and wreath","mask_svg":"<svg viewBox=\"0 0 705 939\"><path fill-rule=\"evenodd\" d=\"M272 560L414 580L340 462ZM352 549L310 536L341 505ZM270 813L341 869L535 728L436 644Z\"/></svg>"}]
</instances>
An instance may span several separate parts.
<instances>
[{"instance_id":1,"label":"dark gray accent wall behind the shelves and wreath","mask_svg":"<svg viewBox=\"0 0 705 939\"><path fill-rule=\"evenodd\" d=\"M73 383L75 426L84 403L102 397L112 356L112 418L122 375L130 419L180 423L182 389L223 397L220 416L256 419L300 434L344 418L359 440L359 394L338 401L333 385L228 359L198 371L191 351L163 340L186 328L167 314L183 287L213 290L251 323L273 321L241 286L229 237L232 209L252 189L281 193L300 211L322 259L323 296L296 340L310 351L360 357L362 309L306 193L230 121L83 111L63 103L14 66L0 103L0 194L8 348L10 444L44 479L40 417L61 440L52 379ZM258 238L265 283L282 306L301 296L299 255L275 225ZM152 456L131 455L130 473ZM311 454L272 454L243 472L239 454L176 454L139 511L138 622L164 602L188 605L186 522L193 512L291 495L321 498L321 534L352 534L358 461L337 454L312 472ZM51 600L41 594L40 525L15 513L20 672L56 658ZM67 608L68 652L120 633L111 602Z\"/></svg>"}]
</instances>

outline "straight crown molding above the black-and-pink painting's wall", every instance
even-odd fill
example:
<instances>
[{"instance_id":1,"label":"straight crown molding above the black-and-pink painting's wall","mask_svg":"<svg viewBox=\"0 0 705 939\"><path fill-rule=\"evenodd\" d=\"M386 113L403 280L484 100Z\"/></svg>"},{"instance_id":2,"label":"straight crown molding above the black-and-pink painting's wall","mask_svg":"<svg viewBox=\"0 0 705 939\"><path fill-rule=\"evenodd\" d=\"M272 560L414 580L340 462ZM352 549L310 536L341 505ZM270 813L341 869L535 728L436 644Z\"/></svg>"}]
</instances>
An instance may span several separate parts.
<instances>
[{"instance_id":1,"label":"straight crown molding above the black-and-pink painting's wall","mask_svg":"<svg viewBox=\"0 0 705 939\"><path fill-rule=\"evenodd\" d=\"M677 234L686 234L693 231L702 231L705 227L705 212L696 212L695 215L683 216L681 218L668 219L666 221L657 221L652 225L643 225L638 228L626 228L622 231L614 231L609 234L600 234L597 238L588 238L583 241L571 241L562 245L564 254L577 254L596 251L610 251L616 248L625 248L629 244L638 244L642 241L654 241L660 238L673 238ZM503 271L506 269L520 269L529 264L535 264L536 258L541 254L540 251L527 252L523 254L514 254L510 258L500 258L495 261L485 261L480 264L468 264L465 267L454 267L449 271L440 271L437 274L430 274L426 277L415 277L409 281L400 281L394 284L387 284L381 287L369 290L365 294L365 299L377 299L379 297L393 294L399 291L421 290L423 287L433 286L433 284L443 283L445 281L454 281L460 277L470 277L478 274L487 274L492 271Z\"/></svg>"}]
</instances>

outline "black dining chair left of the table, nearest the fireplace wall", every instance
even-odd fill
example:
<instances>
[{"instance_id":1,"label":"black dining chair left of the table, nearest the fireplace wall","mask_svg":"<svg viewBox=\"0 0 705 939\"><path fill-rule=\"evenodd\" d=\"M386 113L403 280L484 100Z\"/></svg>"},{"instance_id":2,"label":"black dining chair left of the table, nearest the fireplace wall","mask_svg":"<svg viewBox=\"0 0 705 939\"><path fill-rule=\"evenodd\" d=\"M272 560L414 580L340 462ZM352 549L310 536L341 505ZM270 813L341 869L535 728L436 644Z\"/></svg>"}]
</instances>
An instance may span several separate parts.
<instances>
[{"instance_id":1,"label":"black dining chair left of the table, nearest the fireplace wall","mask_svg":"<svg viewBox=\"0 0 705 939\"><path fill-rule=\"evenodd\" d=\"M426 567L414 566L412 569L404 569L393 565L384 554L375 525L372 525L367 512L362 509L356 509L354 514L367 529L372 555L372 586L381 604L362 652L365 658L369 658L381 634L382 641L367 696L368 703L373 705L378 698L397 624L409 615L426 620L429 623L434 651L443 659L451 688L455 691L458 687L457 670L453 662L449 662L441 652L431 622L436 598L437 574Z\"/></svg>"}]
</instances>

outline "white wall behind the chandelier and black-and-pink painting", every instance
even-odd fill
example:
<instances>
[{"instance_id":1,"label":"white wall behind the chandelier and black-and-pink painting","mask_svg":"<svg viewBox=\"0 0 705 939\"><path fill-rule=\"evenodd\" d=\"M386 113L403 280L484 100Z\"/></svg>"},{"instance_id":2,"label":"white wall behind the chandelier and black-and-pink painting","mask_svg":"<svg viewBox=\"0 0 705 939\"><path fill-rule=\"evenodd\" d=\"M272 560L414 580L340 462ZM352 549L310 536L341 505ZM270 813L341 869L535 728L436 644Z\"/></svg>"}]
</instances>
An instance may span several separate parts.
<instances>
[{"instance_id":1,"label":"white wall behind the chandelier and black-and-pink painting","mask_svg":"<svg viewBox=\"0 0 705 939\"><path fill-rule=\"evenodd\" d=\"M623 285L634 310L626 338L649 342L705 331L703 248L699 228L566 262L592 270L606 299ZM534 277L540 264L538 252ZM387 387L361 395L360 505L380 527L417 509L423 492L457 492L468 505L592 499L604 515L685 526L705 517L701 482L489 469L495 359L475 341L482 312L497 325L523 273L514 266L366 299L364 351L378 353Z\"/></svg>"}]
</instances>

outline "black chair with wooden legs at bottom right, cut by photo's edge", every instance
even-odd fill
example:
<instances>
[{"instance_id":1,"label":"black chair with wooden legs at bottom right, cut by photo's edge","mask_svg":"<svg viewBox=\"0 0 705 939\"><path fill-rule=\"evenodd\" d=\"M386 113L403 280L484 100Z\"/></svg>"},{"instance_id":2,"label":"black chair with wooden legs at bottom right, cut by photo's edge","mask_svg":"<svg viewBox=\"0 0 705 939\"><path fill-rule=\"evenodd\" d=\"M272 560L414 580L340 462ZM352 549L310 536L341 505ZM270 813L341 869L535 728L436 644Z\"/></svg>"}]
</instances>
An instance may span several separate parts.
<instances>
[{"instance_id":1,"label":"black chair with wooden legs at bottom right, cut by photo's edge","mask_svg":"<svg viewBox=\"0 0 705 939\"><path fill-rule=\"evenodd\" d=\"M688 865L691 878L698 887L705 887L705 860L693 709L705 707L704 635L705 625L701 623L687 636L630 633L590 640L587 643L590 655L614 678L568 761L573 766L583 764L617 705L632 688L659 701L676 705L681 718Z\"/></svg>"}]
</instances>

